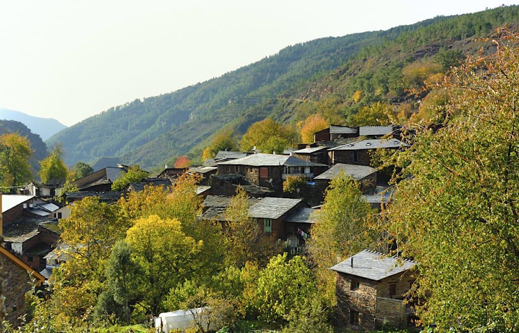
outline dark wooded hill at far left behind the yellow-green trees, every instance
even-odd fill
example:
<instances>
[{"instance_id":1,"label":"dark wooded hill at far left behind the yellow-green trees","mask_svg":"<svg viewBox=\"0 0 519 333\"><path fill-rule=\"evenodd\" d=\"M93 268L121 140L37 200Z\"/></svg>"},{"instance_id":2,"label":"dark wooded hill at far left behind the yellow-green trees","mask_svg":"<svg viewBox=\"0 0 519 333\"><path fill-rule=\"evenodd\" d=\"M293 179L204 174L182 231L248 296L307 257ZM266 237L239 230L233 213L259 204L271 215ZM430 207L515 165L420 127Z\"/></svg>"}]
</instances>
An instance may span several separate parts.
<instances>
[{"instance_id":1,"label":"dark wooded hill at far left behind the yellow-green trees","mask_svg":"<svg viewBox=\"0 0 519 333\"><path fill-rule=\"evenodd\" d=\"M31 172L34 177L38 176L40 169L39 161L47 157L47 145L39 135L34 134L27 126L20 122L11 120L0 120L0 135L4 133L17 133L22 137L27 137L31 142L33 154L29 160Z\"/></svg>"}]
</instances>

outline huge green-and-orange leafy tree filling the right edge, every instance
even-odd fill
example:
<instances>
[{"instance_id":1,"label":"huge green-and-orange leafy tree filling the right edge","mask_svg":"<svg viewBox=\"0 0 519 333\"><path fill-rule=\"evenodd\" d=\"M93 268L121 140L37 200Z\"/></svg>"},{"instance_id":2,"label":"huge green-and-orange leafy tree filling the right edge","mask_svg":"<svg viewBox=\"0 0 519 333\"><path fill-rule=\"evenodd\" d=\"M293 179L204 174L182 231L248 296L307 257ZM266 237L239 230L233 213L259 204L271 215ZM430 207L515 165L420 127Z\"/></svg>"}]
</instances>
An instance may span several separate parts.
<instances>
[{"instance_id":1,"label":"huge green-and-orange leafy tree filling the right edge","mask_svg":"<svg viewBox=\"0 0 519 333\"><path fill-rule=\"evenodd\" d=\"M420 263L417 314L439 332L519 330L519 36L503 37L444 83L443 128L418 127L395 156L413 177L397 185L387 229Z\"/></svg>"}]
</instances>

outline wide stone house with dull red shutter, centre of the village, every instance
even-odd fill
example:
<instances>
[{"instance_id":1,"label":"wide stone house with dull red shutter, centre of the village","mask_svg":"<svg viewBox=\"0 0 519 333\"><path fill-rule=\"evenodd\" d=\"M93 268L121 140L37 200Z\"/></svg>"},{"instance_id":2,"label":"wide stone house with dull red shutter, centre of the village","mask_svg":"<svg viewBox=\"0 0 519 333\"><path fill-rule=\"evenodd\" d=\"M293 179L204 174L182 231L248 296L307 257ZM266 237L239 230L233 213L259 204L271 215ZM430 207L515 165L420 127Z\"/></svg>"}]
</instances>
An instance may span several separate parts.
<instances>
[{"instance_id":1,"label":"wide stone house with dull red shutter, centre of the village","mask_svg":"<svg viewBox=\"0 0 519 333\"><path fill-rule=\"evenodd\" d=\"M240 174L252 184L281 193L287 176L305 176L307 179L320 175L328 168L325 164L303 161L288 155L252 154L246 157L218 163L218 175Z\"/></svg>"}]
</instances>

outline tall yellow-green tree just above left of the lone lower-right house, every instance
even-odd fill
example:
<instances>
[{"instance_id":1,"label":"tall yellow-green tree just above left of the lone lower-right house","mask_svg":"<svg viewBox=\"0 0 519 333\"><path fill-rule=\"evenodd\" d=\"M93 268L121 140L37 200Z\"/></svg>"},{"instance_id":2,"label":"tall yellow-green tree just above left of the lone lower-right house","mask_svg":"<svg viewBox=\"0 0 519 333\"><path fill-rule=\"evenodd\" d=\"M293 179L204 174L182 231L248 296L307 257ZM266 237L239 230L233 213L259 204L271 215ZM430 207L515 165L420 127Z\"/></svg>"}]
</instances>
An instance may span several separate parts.
<instances>
[{"instance_id":1,"label":"tall yellow-green tree just above left of the lone lower-right house","mask_svg":"<svg viewBox=\"0 0 519 333\"><path fill-rule=\"evenodd\" d=\"M372 208L362 198L359 183L340 172L326 189L324 205L316 213L316 223L307 240L308 250L318 266L318 276L326 285L327 297L333 303L334 264L371 244L374 235L368 227Z\"/></svg>"}]
</instances>

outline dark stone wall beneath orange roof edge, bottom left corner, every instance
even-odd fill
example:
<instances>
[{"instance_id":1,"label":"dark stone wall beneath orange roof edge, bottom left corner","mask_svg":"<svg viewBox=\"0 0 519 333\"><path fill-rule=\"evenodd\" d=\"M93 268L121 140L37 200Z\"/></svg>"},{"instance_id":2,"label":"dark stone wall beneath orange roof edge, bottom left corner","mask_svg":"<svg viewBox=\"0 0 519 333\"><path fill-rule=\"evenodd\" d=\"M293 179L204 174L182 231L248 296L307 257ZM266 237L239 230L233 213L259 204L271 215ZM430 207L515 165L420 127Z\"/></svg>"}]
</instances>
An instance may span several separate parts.
<instances>
[{"instance_id":1,"label":"dark stone wall beneath orange roof edge, bottom left corner","mask_svg":"<svg viewBox=\"0 0 519 333\"><path fill-rule=\"evenodd\" d=\"M7 257L0 254L6 274L5 285L5 309L6 319L16 326L20 324L18 317L25 313L25 293L31 289L29 274L21 267L13 263Z\"/></svg>"}]
</instances>

